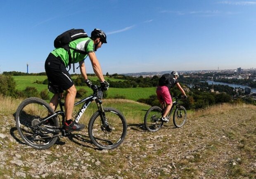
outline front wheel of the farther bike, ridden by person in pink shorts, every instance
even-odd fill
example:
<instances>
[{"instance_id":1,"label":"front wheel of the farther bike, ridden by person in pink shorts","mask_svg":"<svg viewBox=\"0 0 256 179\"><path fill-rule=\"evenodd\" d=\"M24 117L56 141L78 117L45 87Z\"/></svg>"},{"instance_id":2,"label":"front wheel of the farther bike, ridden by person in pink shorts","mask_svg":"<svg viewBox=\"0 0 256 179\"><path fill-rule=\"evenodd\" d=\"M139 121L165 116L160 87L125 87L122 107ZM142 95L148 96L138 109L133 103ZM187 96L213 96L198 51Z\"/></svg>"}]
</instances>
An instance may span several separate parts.
<instances>
[{"instance_id":1,"label":"front wheel of the farther bike, ridden by person in pink shorts","mask_svg":"<svg viewBox=\"0 0 256 179\"><path fill-rule=\"evenodd\" d=\"M187 111L184 106L179 106L173 113L173 124L175 127L182 127L187 120Z\"/></svg>"}]
</instances>

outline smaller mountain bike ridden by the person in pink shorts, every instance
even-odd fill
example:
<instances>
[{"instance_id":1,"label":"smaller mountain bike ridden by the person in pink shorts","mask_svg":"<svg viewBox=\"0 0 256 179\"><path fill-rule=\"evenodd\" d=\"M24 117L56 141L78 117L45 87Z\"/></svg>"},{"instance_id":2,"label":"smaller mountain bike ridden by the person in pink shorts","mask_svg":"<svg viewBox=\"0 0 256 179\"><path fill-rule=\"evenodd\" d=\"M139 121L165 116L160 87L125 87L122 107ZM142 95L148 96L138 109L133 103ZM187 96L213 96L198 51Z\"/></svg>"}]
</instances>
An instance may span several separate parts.
<instances>
[{"instance_id":1,"label":"smaller mountain bike ridden by the person in pink shorts","mask_svg":"<svg viewBox=\"0 0 256 179\"><path fill-rule=\"evenodd\" d=\"M187 120L187 111L185 107L181 106L179 103L179 100L182 99L181 96L172 98L175 99L175 101L173 101L171 110L166 118L170 119L171 114L174 111L173 124L175 125L175 127L182 127ZM144 125L148 131L156 132L162 127L164 121L162 121L161 118L164 110L165 109L162 109L159 106L152 106L151 108L149 108L144 118Z\"/></svg>"}]
</instances>

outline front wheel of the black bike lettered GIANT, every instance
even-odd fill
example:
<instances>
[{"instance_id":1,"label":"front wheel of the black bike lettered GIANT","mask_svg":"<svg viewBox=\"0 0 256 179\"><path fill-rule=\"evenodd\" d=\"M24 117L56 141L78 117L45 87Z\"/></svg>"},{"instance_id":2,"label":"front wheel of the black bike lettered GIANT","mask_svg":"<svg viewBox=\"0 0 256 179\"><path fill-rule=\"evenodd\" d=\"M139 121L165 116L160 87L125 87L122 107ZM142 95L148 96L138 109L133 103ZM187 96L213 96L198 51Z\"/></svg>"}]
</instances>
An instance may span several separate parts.
<instances>
[{"instance_id":1,"label":"front wheel of the black bike lettered GIANT","mask_svg":"<svg viewBox=\"0 0 256 179\"><path fill-rule=\"evenodd\" d=\"M92 143L100 149L114 149L126 137L127 124L123 114L115 108L104 108L106 118L101 111L95 112L88 125L88 133ZM102 120L107 120L104 125Z\"/></svg>"}]
</instances>

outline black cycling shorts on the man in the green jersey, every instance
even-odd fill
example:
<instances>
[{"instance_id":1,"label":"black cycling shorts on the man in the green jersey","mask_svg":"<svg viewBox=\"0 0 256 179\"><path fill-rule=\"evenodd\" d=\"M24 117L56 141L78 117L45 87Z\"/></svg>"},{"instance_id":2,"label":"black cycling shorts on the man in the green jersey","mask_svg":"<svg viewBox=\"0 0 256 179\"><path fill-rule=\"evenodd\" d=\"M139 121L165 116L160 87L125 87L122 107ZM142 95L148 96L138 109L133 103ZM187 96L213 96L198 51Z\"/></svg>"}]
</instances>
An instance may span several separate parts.
<instances>
[{"instance_id":1,"label":"black cycling shorts on the man in the green jersey","mask_svg":"<svg viewBox=\"0 0 256 179\"><path fill-rule=\"evenodd\" d=\"M51 84L57 85L62 89L59 92L68 90L74 84L62 59L55 57L52 53L49 54L45 61L45 72Z\"/></svg>"}]
</instances>

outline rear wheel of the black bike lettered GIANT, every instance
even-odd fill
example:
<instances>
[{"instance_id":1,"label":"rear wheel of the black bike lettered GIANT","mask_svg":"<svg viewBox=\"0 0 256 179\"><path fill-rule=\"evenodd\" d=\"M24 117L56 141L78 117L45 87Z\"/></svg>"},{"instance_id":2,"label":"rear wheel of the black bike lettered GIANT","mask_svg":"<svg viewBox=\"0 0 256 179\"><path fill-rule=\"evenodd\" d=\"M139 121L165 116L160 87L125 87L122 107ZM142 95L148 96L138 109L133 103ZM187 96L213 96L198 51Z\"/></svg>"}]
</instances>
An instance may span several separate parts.
<instances>
[{"instance_id":1,"label":"rear wheel of the black bike lettered GIANT","mask_svg":"<svg viewBox=\"0 0 256 179\"><path fill-rule=\"evenodd\" d=\"M55 144L58 139L56 134L45 132L37 127L40 120L54 113L43 99L31 97L21 102L15 113L15 121L17 130L26 144L38 150L50 148ZM57 118L53 118L45 125L59 127L59 122Z\"/></svg>"}]
</instances>

